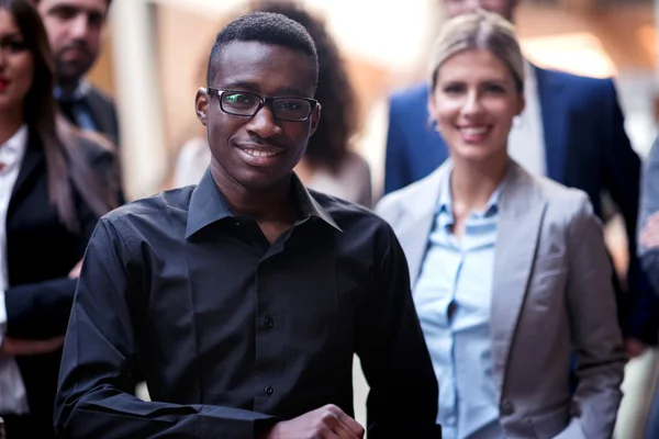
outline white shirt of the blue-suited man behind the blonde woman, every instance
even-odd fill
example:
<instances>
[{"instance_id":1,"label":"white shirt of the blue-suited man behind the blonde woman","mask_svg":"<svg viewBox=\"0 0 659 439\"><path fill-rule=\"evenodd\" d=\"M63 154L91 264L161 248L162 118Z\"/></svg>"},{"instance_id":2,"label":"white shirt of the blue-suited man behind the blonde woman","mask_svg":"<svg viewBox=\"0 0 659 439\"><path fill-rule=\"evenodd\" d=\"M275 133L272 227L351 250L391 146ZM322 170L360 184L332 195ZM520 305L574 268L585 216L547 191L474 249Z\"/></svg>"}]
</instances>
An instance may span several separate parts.
<instances>
[{"instance_id":1,"label":"white shirt of the blue-suited man behind the blonde woman","mask_svg":"<svg viewBox=\"0 0 659 439\"><path fill-rule=\"evenodd\" d=\"M538 81L534 67L526 63L524 78L524 112L515 119L509 135L509 154L534 176L547 175L543 114Z\"/></svg>"}]
</instances>

